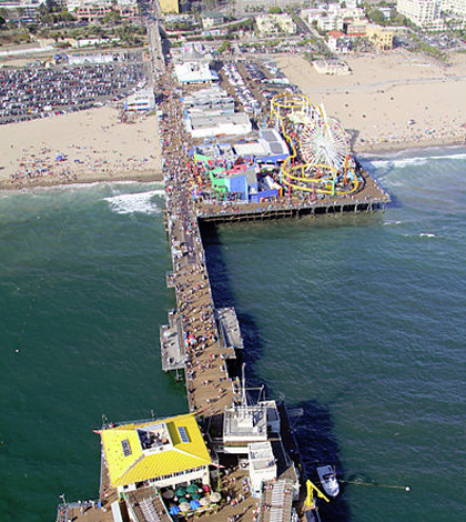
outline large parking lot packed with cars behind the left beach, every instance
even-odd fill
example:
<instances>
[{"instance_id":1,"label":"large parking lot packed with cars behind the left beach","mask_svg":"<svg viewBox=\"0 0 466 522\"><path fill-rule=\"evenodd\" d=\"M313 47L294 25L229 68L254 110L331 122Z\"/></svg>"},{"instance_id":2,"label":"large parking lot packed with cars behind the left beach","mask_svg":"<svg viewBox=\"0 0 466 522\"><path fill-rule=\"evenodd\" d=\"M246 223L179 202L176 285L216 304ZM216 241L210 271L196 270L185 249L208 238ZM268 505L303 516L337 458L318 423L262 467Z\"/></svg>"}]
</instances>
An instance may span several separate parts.
<instances>
[{"instance_id":1,"label":"large parking lot packed with cars behind the left beach","mask_svg":"<svg viewBox=\"0 0 466 522\"><path fill-rule=\"evenodd\" d=\"M0 70L0 123L89 109L120 99L144 78L140 63Z\"/></svg>"}]
</instances>

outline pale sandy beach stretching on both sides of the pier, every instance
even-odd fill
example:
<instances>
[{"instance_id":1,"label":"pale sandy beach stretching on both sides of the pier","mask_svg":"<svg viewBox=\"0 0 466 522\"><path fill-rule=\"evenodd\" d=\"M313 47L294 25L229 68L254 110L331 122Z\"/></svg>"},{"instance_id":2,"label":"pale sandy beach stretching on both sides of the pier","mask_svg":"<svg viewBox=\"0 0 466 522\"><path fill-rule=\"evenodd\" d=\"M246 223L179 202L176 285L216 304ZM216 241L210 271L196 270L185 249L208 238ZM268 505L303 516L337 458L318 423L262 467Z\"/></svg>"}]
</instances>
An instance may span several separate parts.
<instances>
[{"instance_id":1,"label":"pale sandy beach stretching on both sides of the pier","mask_svg":"<svg viewBox=\"0 0 466 522\"><path fill-rule=\"evenodd\" d=\"M352 135L357 153L465 144L466 56L447 64L393 51L345 57L348 76L318 74L304 59L277 63ZM162 179L155 116L133 123L112 107L0 126L0 187Z\"/></svg>"}]
</instances>

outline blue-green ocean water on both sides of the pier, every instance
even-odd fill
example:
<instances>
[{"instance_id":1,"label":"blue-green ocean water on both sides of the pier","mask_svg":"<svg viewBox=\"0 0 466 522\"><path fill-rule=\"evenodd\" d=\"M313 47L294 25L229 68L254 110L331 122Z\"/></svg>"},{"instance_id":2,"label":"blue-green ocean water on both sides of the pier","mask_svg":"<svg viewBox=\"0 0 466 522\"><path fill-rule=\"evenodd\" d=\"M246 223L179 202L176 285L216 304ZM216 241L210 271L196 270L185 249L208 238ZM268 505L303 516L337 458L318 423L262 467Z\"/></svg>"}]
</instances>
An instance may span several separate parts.
<instances>
[{"instance_id":1,"label":"blue-green ocean water on both sides of the pier","mask_svg":"<svg viewBox=\"0 0 466 522\"><path fill-rule=\"evenodd\" d=\"M466 152L366 163L385 212L207 231L214 297L307 472L347 482L323 522L464 521ZM97 496L102 414L186 411L160 368L169 270L159 184L0 193L1 522Z\"/></svg>"}]
</instances>

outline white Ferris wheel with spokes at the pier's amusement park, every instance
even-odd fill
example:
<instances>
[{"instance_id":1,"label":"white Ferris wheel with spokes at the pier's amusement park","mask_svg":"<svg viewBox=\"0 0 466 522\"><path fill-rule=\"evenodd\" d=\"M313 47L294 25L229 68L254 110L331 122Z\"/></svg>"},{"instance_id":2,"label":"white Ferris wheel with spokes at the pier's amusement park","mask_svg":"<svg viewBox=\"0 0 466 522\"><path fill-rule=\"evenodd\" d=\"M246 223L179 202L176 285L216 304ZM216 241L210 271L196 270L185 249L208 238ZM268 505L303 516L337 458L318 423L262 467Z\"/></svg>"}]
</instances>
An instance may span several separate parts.
<instances>
[{"instance_id":1,"label":"white Ferris wheel with spokes at the pier's amusement park","mask_svg":"<svg viewBox=\"0 0 466 522\"><path fill-rule=\"evenodd\" d=\"M342 171L351 159L348 135L336 120L326 118L325 113L323 118L301 126L298 142L302 159L310 167L326 164Z\"/></svg>"}]
</instances>

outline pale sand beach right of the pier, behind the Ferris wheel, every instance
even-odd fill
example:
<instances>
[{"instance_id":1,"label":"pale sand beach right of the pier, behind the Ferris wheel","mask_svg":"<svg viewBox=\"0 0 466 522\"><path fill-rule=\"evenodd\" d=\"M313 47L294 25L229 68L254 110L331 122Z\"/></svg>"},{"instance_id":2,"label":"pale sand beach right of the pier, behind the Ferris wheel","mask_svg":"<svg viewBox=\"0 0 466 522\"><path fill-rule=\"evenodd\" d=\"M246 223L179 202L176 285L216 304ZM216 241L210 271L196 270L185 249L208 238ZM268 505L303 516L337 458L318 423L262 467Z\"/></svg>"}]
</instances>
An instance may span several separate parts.
<instances>
[{"instance_id":1,"label":"pale sand beach right of the pier, behind the Ferris wheel","mask_svg":"<svg viewBox=\"0 0 466 522\"><path fill-rule=\"evenodd\" d=\"M356 152L465 143L465 54L452 54L446 66L406 51L343 59L348 76L318 74L293 56L277 64L343 124Z\"/></svg>"}]
</instances>

